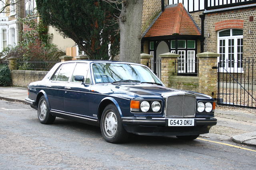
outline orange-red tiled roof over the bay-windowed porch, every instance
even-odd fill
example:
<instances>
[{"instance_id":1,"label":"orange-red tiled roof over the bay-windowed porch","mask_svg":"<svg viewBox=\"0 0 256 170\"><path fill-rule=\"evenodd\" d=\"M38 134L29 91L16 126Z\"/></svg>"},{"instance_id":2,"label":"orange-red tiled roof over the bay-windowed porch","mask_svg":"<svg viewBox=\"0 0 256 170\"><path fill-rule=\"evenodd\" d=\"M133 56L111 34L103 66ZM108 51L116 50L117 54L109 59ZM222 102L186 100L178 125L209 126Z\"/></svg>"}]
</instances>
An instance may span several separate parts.
<instances>
[{"instance_id":1,"label":"orange-red tiled roof over the bay-windowed porch","mask_svg":"<svg viewBox=\"0 0 256 170\"><path fill-rule=\"evenodd\" d=\"M196 23L194 23L182 3L168 6L146 31L144 37L173 34L201 35Z\"/></svg>"}]
</instances>

